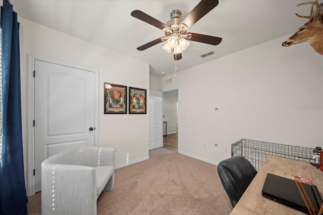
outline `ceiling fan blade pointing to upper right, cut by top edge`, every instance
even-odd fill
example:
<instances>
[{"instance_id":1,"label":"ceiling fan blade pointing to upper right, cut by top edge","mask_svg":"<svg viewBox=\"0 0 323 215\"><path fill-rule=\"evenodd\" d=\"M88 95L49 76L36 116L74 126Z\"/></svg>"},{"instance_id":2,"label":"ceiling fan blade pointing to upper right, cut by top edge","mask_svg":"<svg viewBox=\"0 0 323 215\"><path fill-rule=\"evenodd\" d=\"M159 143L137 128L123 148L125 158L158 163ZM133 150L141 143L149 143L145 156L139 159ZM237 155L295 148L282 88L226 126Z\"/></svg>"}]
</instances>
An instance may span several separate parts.
<instances>
[{"instance_id":1,"label":"ceiling fan blade pointing to upper right, cut by top edge","mask_svg":"<svg viewBox=\"0 0 323 215\"><path fill-rule=\"evenodd\" d=\"M213 8L217 7L218 4L218 0L201 0L201 2L195 6L195 8L182 20L181 23L187 25L188 28L192 27L194 23L199 21Z\"/></svg>"}]
</instances>

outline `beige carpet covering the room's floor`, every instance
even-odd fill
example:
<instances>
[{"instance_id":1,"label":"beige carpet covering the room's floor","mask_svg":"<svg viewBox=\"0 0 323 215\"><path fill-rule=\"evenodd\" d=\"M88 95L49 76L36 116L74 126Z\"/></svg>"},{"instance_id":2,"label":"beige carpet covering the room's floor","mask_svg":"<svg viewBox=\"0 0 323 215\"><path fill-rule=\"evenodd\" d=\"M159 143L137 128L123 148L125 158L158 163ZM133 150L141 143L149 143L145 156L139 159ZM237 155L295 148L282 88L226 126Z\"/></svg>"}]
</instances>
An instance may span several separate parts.
<instances>
[{"instance_id":1,"label":"beige carpet covering the room's floor","mask_svg":"<svg viewBox=\"0 0 323 215\"><path fill-rule=\"evenodd\" d=\"M159 148L149 160L116 170L115 188L102 192L97 214L229 214L217 166ZM40 213L40 193L28 197L28 214Z\"/></svg>"}]
</instances>

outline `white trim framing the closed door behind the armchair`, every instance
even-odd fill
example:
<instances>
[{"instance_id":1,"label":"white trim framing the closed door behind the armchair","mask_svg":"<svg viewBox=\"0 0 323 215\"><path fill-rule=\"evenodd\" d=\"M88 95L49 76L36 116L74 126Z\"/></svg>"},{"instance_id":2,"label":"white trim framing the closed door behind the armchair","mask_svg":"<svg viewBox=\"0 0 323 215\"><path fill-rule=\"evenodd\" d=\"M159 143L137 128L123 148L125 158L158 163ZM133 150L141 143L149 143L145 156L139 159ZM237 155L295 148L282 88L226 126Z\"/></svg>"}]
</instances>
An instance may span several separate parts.
<instances>
[{"instance_id":1,"label":"white trim framing the closed door behind the armchair","mask_svg":"<svg viewBox=\"0 0 323 215\"><path fill-rule=\"evenodd\" d=\"M32 54L28 54L28 104L27 104L27 134L28 134L28 144L27 144L27 179L28 179L28 184L27 184L27 195L33 195L34 192L34 175L33 175L33 170L35 168L34 164L34 152L35 152L35 136L34 136L34 126L33 126L33 120L35 119L35 83L34 83L34 78L33 78L33 73L34 73L34 62L35 60L41 60L49 63L56 63L64 66L70 66L73 68L78 68L78 69L84 69L88 71L92 71L95 74L95 146L98 147L98 140L99 140L99 135L98 135L98 119L99 119L99 70L96 68L90 68L86 66L81 66L81 65L75 65L72 63L67 63L59 60L53 60L45 57L39 57L35 56Z\"/></svg>"}]
</instances>

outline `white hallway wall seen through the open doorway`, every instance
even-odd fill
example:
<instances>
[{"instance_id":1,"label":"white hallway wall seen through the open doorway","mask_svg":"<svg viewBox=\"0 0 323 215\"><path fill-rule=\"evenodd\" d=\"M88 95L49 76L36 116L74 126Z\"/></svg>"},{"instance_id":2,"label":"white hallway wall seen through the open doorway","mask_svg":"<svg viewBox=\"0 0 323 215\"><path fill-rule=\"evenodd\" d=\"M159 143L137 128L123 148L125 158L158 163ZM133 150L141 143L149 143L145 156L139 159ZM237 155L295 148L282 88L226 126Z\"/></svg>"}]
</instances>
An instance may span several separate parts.
<instances>
[{"instance_id":1,"label":"white hallway wall seen through the open doorway","mask_svg":"<svg viewBox=\"0 0 323 215\"><path fill-rule=\"evenodd\" d=\"M178 100L178 90L164 92L163 115L164 115L164 121L167 121L167 134L172 134L177 132L177 100ZM166 130L164 129L164 134L165 132Z\"/></svg>"}]
</instances>

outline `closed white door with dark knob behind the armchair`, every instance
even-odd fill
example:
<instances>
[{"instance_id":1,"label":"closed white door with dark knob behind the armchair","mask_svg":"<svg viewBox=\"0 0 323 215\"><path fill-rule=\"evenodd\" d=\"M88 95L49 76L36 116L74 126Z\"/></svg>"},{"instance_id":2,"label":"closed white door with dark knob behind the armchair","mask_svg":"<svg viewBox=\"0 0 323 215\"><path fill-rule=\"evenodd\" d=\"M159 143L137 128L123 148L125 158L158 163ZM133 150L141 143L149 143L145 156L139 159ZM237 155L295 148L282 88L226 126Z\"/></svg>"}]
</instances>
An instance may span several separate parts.
<instances>
[{"instance_id":1,"label":"closed white door with dark knob behind the armchair","mask_svg":"<svg viewBox=\"0 0 323 215\"><path fill-rule=\"evenodd\" d=\"M35 176L41 162L65 149L95 146L95 73L35 60Z\"/></svg>"}]
</instances>

